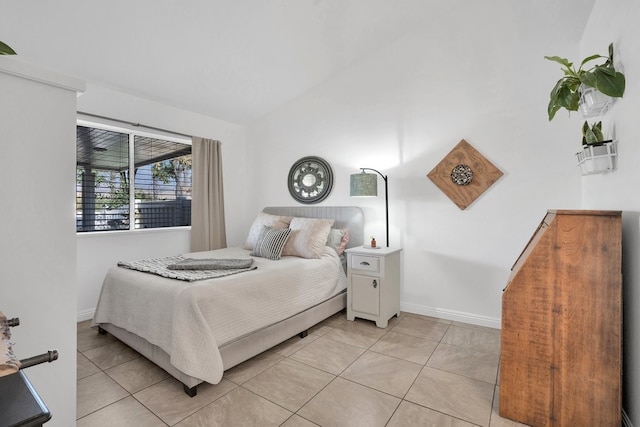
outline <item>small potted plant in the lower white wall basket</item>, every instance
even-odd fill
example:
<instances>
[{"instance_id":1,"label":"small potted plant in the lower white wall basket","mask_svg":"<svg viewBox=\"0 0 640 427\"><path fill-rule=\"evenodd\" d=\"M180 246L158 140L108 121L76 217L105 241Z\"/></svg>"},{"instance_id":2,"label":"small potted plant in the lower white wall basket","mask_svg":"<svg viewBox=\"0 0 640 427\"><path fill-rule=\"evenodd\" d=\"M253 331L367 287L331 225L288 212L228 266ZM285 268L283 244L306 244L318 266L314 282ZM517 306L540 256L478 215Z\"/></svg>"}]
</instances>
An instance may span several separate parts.
<instances>
[{"instance_id":1,"label":"small potted plant in the lower white wall basket","mask_svg":"<svg viewBox=\"0 0 640 427\"><path fill-rule=\"evenodd\" d=\"M615 169L618 155L615 142L605 139L602 122L582 125L582 151L576 153L582 175L605 173Z\"/></svg>"}]
</instances>

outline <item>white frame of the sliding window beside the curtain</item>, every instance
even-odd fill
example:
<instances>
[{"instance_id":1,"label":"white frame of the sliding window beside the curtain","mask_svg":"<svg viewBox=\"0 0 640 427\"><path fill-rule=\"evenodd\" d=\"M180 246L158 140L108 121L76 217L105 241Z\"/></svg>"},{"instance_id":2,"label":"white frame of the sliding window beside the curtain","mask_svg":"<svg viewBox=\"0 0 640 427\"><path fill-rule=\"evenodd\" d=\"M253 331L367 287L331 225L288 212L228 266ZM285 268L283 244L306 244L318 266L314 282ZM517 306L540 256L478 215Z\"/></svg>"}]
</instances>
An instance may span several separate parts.
<instances>
[{"instance_id":1,"label":"white frame of the sliding window beside the curtain","mask_svg":"<svg viewBox=\"0 0 640 427\"><path fill-rule=\"evenodd\" d=\"M114 122L117 123L117 122ZM179 144L185 144L189 146L193 146L192 140L185 136L172 135L168 132L161 132L156 130L143 130L144 126L134 126L128 125L125 123L117 123L114 124L111 120L106 119L96 119L91 118L84 119L82 115L78 113L78 117L76 119L76 127L77 126L85 126L90 128L102 129L106 131L125 133L129 136L129 172L131 178L131 185L129 185L129 218L135 218L135 185L133 174L131 171L135 169L135 137L147 137L147 138L156 138L164 141L175 142ZM77 149L76 149L77 153ZM192 151L193 155L193 151ZM77 159L76 159L76 167L77 167ZM76 215L78 211L77 202L74 205L74 215ZM76 230L77 236L83 235L104 235L104 234L126 234L126 233L153 233L159 231L172 231L172 230L190 230L190 225L178 225L178 226L170 226L170 227L153 227L153 228L135 228L135 221L129 221L128 229L120 229L120 230L93 230L93 231L78 231Z\"/></svg>"}]
</instances>

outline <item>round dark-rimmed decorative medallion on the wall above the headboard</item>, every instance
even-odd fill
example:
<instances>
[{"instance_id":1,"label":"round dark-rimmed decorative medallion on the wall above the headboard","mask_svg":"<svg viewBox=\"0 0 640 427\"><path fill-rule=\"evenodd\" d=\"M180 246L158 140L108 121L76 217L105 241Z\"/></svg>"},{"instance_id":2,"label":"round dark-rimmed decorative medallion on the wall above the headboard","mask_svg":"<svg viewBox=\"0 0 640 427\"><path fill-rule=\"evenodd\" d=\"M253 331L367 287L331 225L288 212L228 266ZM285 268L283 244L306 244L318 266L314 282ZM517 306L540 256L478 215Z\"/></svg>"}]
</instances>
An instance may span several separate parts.
<instances>
[{"instance_id":1,"label":"round dark-rimmed decorative medallion on the wall above the headboard","mask_svg":"<svg viewBox=\"0 0 640 427\"><path fill-rule=\"evenodd\" d=\"M333 171L320 157L303 157L291 166L287 185L291 197L300 203L318 203L331 193Z\"/></svg>"}]
</instances>

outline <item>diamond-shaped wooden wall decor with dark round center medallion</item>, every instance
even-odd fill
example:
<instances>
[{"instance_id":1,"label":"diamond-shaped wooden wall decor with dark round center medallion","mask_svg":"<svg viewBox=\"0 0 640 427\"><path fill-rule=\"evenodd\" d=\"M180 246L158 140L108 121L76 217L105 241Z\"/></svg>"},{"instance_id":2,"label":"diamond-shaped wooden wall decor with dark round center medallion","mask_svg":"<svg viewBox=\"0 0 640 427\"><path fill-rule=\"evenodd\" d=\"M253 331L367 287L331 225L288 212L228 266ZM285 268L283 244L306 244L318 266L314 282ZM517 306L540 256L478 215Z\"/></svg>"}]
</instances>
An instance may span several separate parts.
<instances>
[{"instance_id":1,"label":"diamond-shaped wooden wall decor with dark round center medallion","mask_svg":"<svg viewBox=\"0 0 640 427\"><path fill-rule=\"evenodd\" d=\"M493 185L502 172L464 139L427 177L460 209L465 209Z\"/></svg>"}]
</instances>

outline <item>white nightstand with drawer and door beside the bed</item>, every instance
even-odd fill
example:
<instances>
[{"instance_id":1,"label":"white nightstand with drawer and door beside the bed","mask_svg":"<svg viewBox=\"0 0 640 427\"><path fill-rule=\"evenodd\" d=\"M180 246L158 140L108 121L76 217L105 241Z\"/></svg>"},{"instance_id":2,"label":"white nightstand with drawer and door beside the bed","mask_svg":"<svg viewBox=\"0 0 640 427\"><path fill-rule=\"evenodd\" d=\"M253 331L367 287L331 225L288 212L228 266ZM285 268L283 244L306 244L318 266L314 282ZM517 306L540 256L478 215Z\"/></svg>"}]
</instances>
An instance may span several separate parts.
<instances>
[{"instance_id":1,"label":"white nightstand with drawer and door beside the bed","mask_svg":"<svg viewBox=\"0 0 640 427\"><path fill-rule=\"evenodd\" d=\"M374 320L386 328L400 316L399 248L347 249L347 320Z\"/></svg>"}]
</instances>

